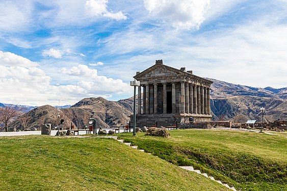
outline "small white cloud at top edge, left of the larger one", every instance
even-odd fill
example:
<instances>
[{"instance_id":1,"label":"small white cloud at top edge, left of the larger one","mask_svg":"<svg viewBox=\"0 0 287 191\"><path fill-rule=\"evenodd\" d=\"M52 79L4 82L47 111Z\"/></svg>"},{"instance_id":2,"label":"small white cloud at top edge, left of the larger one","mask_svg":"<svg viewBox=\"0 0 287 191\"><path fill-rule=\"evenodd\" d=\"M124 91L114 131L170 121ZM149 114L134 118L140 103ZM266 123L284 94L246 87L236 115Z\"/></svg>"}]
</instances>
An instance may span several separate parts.
<instances>
[{"instance_id":1,"label":"small white cloud at top edge, left of the larger one","mask_svg":"<svg viewBox=\"0 0 287 191\"><path fill-rule=\"evenodd\" d=\"M126 20L127 17L121 11L117 13L109 12L108 0L89 0L86 1L85 12L90 16L104 16L115 20Z\"/></svg>"}]
</instances>

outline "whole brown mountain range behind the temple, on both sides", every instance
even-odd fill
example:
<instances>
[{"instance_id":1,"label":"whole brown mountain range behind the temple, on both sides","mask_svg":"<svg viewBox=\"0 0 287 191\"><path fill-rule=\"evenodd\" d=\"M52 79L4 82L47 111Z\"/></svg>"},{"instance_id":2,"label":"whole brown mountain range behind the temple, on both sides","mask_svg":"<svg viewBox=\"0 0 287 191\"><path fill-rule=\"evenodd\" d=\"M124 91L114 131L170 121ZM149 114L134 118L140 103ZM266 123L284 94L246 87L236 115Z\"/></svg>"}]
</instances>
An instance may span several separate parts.
<instances>
[{"instance_id":1,"label":"whole brown mountain range behind the temple, on both sides","mask_svg":"<svg viewBox=\"0 0 287 191\"><path fill-rule=\"evenodd\" d=\"M287 120L287 87L253 88L207 79L214 82L211 86L213 120L230 120L235 123L254 119L260 121L260 107L265 107L264 121ZM27 128L37 128L43 122L55 126L58 123L57 107L27 106L27 113L24 114L30 120ZM60 119L64 119L64 126L88 126L89 118L95 118L101 127L122 126L128 123L132 112L133 97L119 101L109 101L102 97L84 98L72 106L62 106ZM20 128L21 122L16 120L10 126Z\"/></svg>"}]
</instances>

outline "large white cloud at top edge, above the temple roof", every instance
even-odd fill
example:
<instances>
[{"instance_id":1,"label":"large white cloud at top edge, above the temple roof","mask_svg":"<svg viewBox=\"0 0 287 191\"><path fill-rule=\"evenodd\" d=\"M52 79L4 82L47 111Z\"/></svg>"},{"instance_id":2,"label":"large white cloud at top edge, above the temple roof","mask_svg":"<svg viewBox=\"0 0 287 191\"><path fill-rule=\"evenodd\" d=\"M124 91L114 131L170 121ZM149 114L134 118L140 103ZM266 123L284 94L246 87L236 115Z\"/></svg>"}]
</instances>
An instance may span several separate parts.
<instances>
[{"instance_id":1,"label":"large white cloud at top edge, above the temple roof","mask_svg":"<svg viewBox=\"0 0 287 191\"><path fill-rule=\"evenodd\" d=\"M198 29L209 8L209 0L144 0L149 13L170 22L176 29Z\"/></svg>"}]
</instances>

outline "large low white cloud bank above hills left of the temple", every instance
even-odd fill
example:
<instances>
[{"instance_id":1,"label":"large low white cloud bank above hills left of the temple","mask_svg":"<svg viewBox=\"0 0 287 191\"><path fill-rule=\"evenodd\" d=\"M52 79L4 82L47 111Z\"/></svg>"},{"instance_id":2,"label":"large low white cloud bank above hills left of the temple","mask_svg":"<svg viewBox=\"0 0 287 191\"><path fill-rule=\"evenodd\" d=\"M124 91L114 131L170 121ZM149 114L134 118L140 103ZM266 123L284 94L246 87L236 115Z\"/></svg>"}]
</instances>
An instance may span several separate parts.
<instances>
[{"instance_id":1,"label":"large low white cloud bank above hills left of the temple","mask_svg":"<svg viewBox=\"0 0 287 191\"><path fill-rule=\"evenodd\" d=\"M99 76L97 70L89 69L86 65L62 69L59 81L65 79L71 83L57 86L51 85L53 79L38 67L38 63L11 52L0 51L1 102L57 105L61 99L61 104L73 104L85 97L108 98L132 93L131 87L122 80Z\"/></svg>"}]
</instances>

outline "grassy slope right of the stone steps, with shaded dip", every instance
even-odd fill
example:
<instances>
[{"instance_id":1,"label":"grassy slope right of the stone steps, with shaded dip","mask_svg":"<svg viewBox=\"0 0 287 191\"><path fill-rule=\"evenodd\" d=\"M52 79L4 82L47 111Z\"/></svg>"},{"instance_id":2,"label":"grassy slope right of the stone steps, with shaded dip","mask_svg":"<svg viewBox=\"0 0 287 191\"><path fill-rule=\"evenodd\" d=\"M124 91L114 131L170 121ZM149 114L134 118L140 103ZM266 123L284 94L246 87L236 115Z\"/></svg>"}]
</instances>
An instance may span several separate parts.
<instances>
[{"instance_id":1,"label":"grassy slope right of the stone steps, with shaded dip","mask_svg":"<svg viewBox=\"0 0 287 191\"><path fill-rule=\"evenodd\" d=\"M287 190L287 139L236 130L173 130L171 138L121 138L179 166L247 190Z\"/></svg>"}]
</instances>

